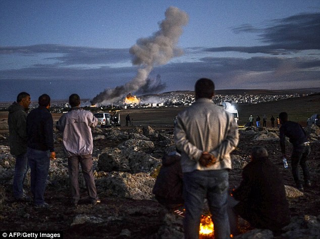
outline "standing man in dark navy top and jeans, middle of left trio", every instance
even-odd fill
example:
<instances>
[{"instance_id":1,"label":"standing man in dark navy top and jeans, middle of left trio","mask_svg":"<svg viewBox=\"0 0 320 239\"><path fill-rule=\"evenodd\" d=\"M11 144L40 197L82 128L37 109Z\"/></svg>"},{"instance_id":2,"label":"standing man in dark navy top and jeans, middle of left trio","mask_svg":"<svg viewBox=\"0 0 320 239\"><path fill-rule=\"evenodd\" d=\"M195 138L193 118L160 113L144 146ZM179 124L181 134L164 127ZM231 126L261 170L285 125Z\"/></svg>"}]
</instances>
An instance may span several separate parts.
<instances>
[{"instance_id":1,"label":"standing man in dark navy top and jeans, middle of left trio","mask_svg":"<svg viewBox=\"0 0 320 239\"><path fill-rule=\"evenodd\" d=\"M48 177L50 159L55 160L54 121L50 108L50 97L40 95L39 107L32 110L27 117L28 162L31 169L31 192L34 206L49 208L44 202L44 191Z\"/></svg>"}]
</instances>

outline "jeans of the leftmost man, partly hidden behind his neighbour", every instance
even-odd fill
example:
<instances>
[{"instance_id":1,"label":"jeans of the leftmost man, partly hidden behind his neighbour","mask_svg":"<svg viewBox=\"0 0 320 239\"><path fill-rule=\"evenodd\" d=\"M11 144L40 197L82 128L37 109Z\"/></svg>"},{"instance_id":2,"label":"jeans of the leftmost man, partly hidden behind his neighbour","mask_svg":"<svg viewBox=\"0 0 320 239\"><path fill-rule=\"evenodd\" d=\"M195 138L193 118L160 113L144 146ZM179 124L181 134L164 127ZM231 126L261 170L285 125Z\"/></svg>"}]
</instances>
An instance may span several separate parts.
<instances>
[{"instance_id":1,"label":"jeans of the leftmost man, partly hidden behind his neighbour","mask_svg":"<svg viewBox=\"0 0 320 239\"><path fill-rule=\"evenodd\" d=\"M15 175L13 178L13 196L19 199L23 195L23 182L28 172L27 154L16 156Z\"/></svg>"}]
</instances>

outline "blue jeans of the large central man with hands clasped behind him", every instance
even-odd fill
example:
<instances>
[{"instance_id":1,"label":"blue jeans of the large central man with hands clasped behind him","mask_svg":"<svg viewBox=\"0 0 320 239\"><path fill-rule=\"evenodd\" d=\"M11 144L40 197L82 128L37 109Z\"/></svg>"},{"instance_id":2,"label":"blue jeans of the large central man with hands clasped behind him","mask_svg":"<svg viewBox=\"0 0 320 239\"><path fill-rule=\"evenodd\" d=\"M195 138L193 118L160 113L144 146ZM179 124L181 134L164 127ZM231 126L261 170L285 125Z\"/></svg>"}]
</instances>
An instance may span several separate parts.
<instances>
[{"instance_id":1,"label":"blue jeans of the large central man with hands clasped behind him","mask_svg":"<svg viewBox=\"0 0 320 239\"><path fill-rule=\"evenodd\" d=\"M186 209L183 221L185 239L199 238L200 218L205 198L215 225L215 238L230 238L227 214L228 170L195 170L183 173L183 182Z\"/></svg>"}]
</instances>

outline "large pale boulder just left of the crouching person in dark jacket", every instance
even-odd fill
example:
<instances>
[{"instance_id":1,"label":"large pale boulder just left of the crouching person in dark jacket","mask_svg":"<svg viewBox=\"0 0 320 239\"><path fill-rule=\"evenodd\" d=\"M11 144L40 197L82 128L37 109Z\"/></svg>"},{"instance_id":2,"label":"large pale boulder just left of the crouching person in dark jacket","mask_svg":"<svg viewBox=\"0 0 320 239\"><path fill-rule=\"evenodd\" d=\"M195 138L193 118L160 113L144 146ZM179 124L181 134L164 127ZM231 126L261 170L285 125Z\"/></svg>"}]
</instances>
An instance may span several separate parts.
<instances>
[{"instance_id":1,"label":"large pale boulder just left of the crouching person in dark jacket","mask_svg":"<svg viewBox=\"0 0 320 239\"><path fill-rule=\"evenodd\" d=\"M152 199L155 179L147 173L112 172L96 180L96 186L110 195L136 200Z\"/></svg>"}]
</instances>

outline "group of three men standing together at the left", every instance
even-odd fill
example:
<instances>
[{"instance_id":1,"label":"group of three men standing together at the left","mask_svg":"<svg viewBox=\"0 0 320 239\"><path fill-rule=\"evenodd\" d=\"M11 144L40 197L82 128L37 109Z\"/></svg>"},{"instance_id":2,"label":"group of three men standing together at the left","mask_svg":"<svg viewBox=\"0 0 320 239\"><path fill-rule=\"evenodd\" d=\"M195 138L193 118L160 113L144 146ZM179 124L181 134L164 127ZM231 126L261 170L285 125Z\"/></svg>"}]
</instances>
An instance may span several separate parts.
<instances>
[{"instance_id":1,"label":"group of three men standing together at the left","mask_svg":"<svg viewBox=\"0 0 320 239\"><path fill-rule=\"evenodd\" d=\"M9 146L11 154L16 158L13 195L16 200L31 201L23 189L24 179L30 168L33 204L37 208L49 208L50 205L44 201L44 192L50 160L56 160L54 123L48 110L50 97L47 94L40 95L39 107L27 114L30 102L30 94L21 92L17 96L17 101L9 107ZM91 203L95 205L100 203L100 200L92 172L91 127L96 126L98 121L91 112L80 108L79 95L71 94L69 104L71 110L62 115L56 127L63 132L72 203L77 206L80 199L78 183L80 163Z\"/></svg>"}]
</instances>

